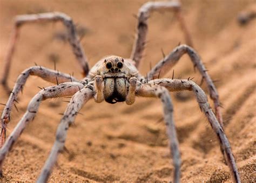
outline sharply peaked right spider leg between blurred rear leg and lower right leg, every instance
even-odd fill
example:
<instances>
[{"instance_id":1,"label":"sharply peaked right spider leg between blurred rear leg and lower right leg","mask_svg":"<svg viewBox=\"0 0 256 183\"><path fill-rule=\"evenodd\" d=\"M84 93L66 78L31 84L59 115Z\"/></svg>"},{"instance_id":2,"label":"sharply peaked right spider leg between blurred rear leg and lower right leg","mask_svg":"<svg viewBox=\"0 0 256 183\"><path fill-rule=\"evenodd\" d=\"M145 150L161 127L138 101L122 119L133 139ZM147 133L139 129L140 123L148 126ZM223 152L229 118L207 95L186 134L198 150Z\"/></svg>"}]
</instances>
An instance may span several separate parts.
<instances>
[{"instance_id":1,"label":"sharply peaked right spider leg between blurred rear leg and lower right leg","mask_svg":"<svg viewBox=\"0 0 256 183\"><path fill-rule=\"evenodd\" d=\"M187 45L180 45L174 50L167 55L163 60L160 60L156 66L154 66L149 73L147 73L147 78L149 80L152 80L154 78L158 78L159 72L161 72L161 75L166 74L167 72L170 71L170 68L173 67L179 59L187 53L190 56L191 61L194 64L194 67L197 67L200 74L203 76L202 79L205 80L207 83L208 91L210 93L210 97L214 101L214 108L215 108L215 113L217 115L217 119L220 123L220 125L223 127L223 118L221 115L221 110L220 110L220 101L219 101L219 94L214 86L214 83L207 73L207 69L205 68L203 62L201 61L198 53L193 50L190 46Z\"/></svg>"}]
</instances>

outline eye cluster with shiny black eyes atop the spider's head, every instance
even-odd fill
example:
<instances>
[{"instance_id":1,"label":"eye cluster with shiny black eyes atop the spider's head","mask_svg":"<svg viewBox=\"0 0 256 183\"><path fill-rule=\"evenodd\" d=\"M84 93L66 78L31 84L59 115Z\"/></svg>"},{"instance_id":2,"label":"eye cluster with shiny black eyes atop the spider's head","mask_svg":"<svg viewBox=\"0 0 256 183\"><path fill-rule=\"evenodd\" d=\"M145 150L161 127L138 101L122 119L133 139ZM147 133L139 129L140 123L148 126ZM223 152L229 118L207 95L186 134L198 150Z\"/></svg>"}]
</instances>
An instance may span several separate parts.
<instances>
[{"instance_id":1,"label":"eye cluster with shiny black eyes atop the spider's head","mask_svg":"<svg viewBox=\"0 0 256 183\"><path fill-rule=\"evenodd\" d=\"M124 59L118 56L110 56L104 60L105 70L108 73L122 72L124 67Z\"/></svg>"}]
</instances>

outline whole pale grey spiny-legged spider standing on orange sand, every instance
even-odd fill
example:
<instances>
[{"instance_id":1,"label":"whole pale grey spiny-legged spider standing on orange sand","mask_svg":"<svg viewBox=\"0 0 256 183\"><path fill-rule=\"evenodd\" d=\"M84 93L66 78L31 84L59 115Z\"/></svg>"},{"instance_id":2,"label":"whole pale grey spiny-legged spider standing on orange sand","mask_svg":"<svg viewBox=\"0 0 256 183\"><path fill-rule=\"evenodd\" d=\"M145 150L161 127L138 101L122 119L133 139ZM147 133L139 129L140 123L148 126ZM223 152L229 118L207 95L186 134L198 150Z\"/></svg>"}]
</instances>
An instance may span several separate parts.
<instances>
[{"instance_id":1,"label":"whole pale grey spiny-legged spider standing on orange sand","mask_svg":"<svg viewBox=\"0 0 256 183\"><path fill-rule=\"evenodd\" d=\"M140 96L158 97L163 103L167 137L170 142L169 146L174 166L173 182L179 182L181 160L176 129L173 121L173 105L169 91L191 90L197 98L201 111L204 112L208 122L212 126L212 129L218 136L221 152L223 152L226 163L230 167L233 181L240 182L231 146L223 130L223 121L217 90L196 51L194 51L190 46L180 45L174 48L174 50L163 60L160 60L146 76L142 76L138 72L137 68L140 64L140 60L142 59L148 30L147 19L149 18L150 12L154 10L173 10L180 22L187 45L192 46L190 35L188 34L183 17L181 16L180 4L178 2L148 2L139 9L137 34L131 58L124 59L122 57L112 55L98 61L91 69L89 69L85 53L78 40L76 28L70 17L59 12L39 13L36 15L22 15L16 17L15 28L10 40L10 47L6 57L5 70L2 79L2 84L5 87L7 87L6 79L8 78L11 57L14 53L18 31L22 25L33 22L60 21L64 24L68 31L69 43L73 49L73 53L79 61L80 66L83 68L85 78L83 80L78 80L69 74L60 73L41 66L30 67L19 75L1 117L1 173L6 154L11 150L12 145L17 141L18 137L25 129L25 126L35 117L39 105L43 100L48 98L72 96L58 126L55 143L52 147L50 156L46 160L42 172L39 175L38 182L46 182L48 180L52 168L56 164L59 152L64 149L64 143L69 126L75 121L75 117L79 113L79 110L87 101L93 98L97 103L105 100L112 104L116 102L126 102L131 105L134 103L135 98ZM197 67L200 74L203 76L203 80L207 83L210 96L214 101L214 110L217 117L208 104L207 96L204 91L190 79L159 79L160 73L161 75L164 75L170 71L171 67L174 66L185 53L189 55L194 66ZM13 105L15 105L15 102L17 102L17 95L19 91L22 90L29 75L39 76L40 78L56 83L57 85L42 88L42 90L32 98L21 121L18 122L16 128L11 132L5 142L5 129L6 125L10 121L11 109Z\"/></svg>"}]
</instances>

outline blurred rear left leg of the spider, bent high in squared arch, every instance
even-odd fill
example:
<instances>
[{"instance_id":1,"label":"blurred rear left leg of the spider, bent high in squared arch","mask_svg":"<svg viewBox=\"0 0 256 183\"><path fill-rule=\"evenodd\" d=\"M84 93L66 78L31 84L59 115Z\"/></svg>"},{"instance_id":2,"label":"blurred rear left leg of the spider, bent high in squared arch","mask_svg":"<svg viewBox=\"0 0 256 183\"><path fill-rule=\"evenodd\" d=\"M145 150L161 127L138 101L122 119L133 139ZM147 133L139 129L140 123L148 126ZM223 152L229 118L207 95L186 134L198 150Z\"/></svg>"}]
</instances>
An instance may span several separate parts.
<instances>
[{"instance_id":1,"label":"blurred rear left leg of the spider, bent high in squared arch","mask_svg":"<svg viewBox=\"0 0 256 183\"><path fill-rule=\"evenodd\" d=\"M50 21L52 22L60 21L65 25L66 29L68 30L69 43L72 47L73 53L75 54L80 66L83 69L84 76L86 76L89 73L89 65L87 62L86 55L84 53L84 50L81 44L79 43L76 27L69 16L60 12L38 13L38 14L32 14L32 15L19 15L15 18L14 30L12 31L11 39L8 46L8 51L5 57L5 65L3 66L4 72L3 72L1 83L5 88L8 88L7 78L10 71L12 55L14 54L14 51L15 51L15 44L19 36L20 27L27 23L50 22Z\"/></svg>"}]
</instances>

